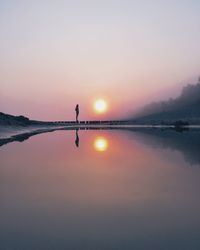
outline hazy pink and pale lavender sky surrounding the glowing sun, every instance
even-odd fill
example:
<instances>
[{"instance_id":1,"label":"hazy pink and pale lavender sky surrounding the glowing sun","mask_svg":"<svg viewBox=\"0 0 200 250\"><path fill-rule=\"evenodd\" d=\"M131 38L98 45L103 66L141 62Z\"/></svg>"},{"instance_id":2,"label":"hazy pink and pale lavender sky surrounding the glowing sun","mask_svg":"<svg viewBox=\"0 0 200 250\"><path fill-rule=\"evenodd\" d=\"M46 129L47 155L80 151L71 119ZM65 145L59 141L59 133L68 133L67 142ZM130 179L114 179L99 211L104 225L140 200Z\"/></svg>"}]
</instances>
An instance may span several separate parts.
<instances>
[{"instance_id":1,"label":"hazy pink and pale lavender sky surrounding the glowing sun","mask_svg":"<svg viewBox=\"0 0 200 250\"><path fill-rule=\"evenodd\" d=\"M120 119L200 75L199 0L0 0L0 111ZM108 112L96 114L104 98Z\"/></svg>"}]
</instances>

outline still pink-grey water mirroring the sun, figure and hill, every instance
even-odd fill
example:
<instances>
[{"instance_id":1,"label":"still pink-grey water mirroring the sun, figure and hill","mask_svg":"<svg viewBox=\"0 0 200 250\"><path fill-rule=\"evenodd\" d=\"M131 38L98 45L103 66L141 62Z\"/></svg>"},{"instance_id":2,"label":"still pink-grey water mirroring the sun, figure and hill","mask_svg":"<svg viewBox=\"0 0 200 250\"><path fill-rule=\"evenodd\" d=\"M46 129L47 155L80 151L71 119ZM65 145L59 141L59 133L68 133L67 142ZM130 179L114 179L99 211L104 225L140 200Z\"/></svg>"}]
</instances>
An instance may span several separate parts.
<instances>
[{"instance_id":1,"label":"still pink-grey water mirroring the sun, figure and hill","mask_svg":"<svg viewBox=\"0 0 200 250\"><path fill-rule=\"evenodd\" d=\"M0 147L0 249L200 249L200 132L79 130Z\"/></svg>"}]
</instances>

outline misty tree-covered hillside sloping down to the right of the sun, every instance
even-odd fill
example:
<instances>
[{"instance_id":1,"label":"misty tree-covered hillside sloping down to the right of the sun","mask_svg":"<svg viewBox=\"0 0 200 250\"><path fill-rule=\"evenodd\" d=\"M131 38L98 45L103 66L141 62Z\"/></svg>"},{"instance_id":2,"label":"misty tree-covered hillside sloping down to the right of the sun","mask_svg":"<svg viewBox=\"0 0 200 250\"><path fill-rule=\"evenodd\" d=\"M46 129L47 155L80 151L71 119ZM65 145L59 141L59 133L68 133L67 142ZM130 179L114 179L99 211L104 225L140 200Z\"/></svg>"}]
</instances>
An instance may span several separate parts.
<instances>
[{"instance_id":1,"label":"misty tree-covered hillside sloping down to the right of the sun","mask_svg":"<svg viewBox=\"0 0 200 250\"><path fill-rule=\"evenodd\" d=\"M200 79L188 84L175 99L154 102L131 118L145 123L171 123L177 120L200 123Z\"/></svg>"}]
</instances>

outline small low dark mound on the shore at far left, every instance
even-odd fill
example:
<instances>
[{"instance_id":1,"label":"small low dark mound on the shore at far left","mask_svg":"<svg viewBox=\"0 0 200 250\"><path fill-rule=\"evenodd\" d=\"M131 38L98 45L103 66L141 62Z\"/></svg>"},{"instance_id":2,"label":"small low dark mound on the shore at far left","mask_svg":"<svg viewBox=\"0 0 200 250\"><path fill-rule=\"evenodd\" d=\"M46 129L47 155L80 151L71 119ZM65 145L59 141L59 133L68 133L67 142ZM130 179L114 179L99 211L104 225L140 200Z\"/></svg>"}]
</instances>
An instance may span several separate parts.
<instances>
[{"instance_id":1,"label":"small low dark mound on the shore at far left","mask_svg":"<svg viewBox=\"0 0 200 250\"><path fill-rule=\"evenodd\" d=\"M0 112L0 125L10 126L27 126L30 125L31 121L25 116L14 116Z\"/></svg>"}]
</instances>

